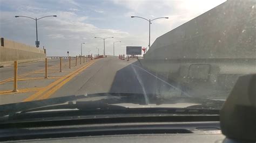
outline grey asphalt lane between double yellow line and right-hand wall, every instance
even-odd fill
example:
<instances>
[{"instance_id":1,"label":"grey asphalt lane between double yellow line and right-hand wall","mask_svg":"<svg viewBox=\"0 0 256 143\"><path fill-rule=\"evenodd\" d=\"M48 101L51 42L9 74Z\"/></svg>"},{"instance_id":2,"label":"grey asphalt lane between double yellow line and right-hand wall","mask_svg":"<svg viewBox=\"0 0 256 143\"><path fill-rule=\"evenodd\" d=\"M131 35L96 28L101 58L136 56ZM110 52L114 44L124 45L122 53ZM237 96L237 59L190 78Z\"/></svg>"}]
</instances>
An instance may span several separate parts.
<instances>
[{"instance_id":1,"label":"grey asphalt lane between double yellow line and right-hand wall","mask_svg":"<svg viewBox=\"0 0 256 143\"><path fill-rule=\"evenodd\" d=\"M181 94L180 90L166 81L143 69L137 60L127 61L109 56L93 63L51 97L104 92L155 95L168 92L168 96Z\"/></svg>"}]
</instances>

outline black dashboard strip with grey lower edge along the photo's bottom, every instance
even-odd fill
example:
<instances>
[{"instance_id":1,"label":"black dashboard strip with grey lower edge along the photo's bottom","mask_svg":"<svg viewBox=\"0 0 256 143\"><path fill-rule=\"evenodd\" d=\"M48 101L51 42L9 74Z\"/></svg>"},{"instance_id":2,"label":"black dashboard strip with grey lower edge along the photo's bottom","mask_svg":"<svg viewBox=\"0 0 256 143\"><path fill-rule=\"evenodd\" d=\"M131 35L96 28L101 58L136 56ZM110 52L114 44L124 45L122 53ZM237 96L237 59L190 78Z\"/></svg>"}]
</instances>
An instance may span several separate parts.
<instances>
[{"instance_id":1,"label":"black dashboard strip with grey lower edge along the photo's bottom","mask_svg":"<svg viewBox=\"0 0 256 143\"><path fill-rule=\"evenodd\" d=\"M1 141L223 142L219 121L121 123L1 129Z\"/></svg>"}]
</instances>

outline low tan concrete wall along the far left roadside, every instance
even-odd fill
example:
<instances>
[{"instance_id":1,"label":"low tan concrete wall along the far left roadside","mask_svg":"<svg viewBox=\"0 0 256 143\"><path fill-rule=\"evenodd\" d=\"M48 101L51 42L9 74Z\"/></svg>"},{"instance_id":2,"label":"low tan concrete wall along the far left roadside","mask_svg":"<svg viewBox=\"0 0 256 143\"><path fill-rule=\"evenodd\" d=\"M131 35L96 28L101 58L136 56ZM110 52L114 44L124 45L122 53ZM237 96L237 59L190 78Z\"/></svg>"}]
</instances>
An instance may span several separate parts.
<instances>
[{"instance_id":1,"label":"low tan concrete wall along the far left roadside","mask_svg":"<svg viewBox=\"0 0 256 143\"><path fill-rule=\"evenodd\" d=\"M45 58L46 54L44 53L43 49L5 38L3 39L3 43L2 40L0 41L0 62L9 62L14 60L38 60Z\"/></svg>"}]
</instances>

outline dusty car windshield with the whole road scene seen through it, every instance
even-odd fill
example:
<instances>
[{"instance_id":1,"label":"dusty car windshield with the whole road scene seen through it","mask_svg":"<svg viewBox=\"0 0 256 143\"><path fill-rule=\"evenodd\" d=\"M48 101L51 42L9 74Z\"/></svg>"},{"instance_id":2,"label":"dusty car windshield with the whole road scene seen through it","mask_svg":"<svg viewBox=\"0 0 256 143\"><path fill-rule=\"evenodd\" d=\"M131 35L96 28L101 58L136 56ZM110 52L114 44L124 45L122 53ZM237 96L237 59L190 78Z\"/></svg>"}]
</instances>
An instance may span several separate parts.
<instances>
[{"instance_id":1,"label":"dusty car windshield with the whole road scene seen through it","mask_svg":"<svg viewBox=\"0 0 256 143\"><path fill-rule=\"evenodd\" d=\"M28 103L30 110L46 106L28 106L45 99L219 110L238 77L256 71L253 0L1 0L0 6L5 114L1 105ZM72 95L79 98L65 98Z\"/></svg>"}]
</instances>

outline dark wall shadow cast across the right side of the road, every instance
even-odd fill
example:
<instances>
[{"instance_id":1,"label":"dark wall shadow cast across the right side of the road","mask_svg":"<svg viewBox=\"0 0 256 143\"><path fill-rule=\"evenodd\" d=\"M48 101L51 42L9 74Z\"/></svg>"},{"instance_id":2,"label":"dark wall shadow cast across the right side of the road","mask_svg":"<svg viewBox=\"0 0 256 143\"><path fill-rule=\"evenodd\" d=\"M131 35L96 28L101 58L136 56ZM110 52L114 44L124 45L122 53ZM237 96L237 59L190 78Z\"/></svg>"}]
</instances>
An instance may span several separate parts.
<instances>
[{"instance_id":1,"label":"dark wall shadow cast across the right side of the road","mask_svg":"<svg viewBox=\"0 0 256 143\"><path fill-rule=\"evenodd\" d=\"M117 71L109 92L180 96L175 83L144 69L138 61Z\"/></svg>"}]
</instances>

